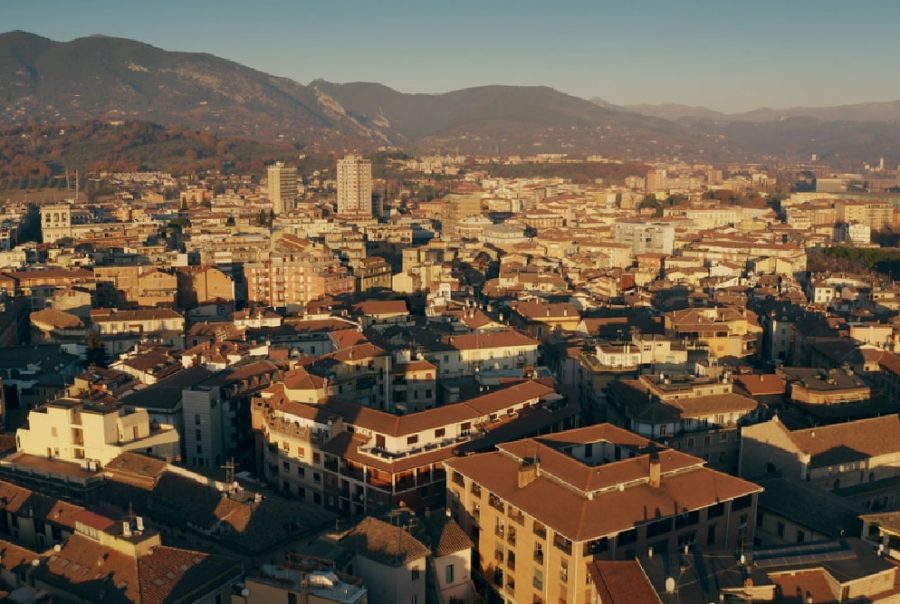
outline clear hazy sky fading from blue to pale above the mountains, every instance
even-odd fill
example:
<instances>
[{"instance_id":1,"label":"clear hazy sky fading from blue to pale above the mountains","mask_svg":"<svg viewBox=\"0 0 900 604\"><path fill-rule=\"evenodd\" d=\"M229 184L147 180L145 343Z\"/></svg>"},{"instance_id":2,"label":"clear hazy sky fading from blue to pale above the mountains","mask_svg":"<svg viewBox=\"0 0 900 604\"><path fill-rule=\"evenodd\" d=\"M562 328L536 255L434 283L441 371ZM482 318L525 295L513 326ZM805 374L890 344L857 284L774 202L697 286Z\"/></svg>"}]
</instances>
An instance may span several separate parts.
<instances>
[{"instance_id":1,"label":"clear hazy sky fading from blue to pale above the mountains","mask_svg":"<svg viewBox=\"0 0 900 604\"><path fill-rule=\"evenodd\" d=\"M134 38L303 83L725 111L900 99L898 26L897 0L0 0L0 30Z\"/></svg>"}]
</instances>

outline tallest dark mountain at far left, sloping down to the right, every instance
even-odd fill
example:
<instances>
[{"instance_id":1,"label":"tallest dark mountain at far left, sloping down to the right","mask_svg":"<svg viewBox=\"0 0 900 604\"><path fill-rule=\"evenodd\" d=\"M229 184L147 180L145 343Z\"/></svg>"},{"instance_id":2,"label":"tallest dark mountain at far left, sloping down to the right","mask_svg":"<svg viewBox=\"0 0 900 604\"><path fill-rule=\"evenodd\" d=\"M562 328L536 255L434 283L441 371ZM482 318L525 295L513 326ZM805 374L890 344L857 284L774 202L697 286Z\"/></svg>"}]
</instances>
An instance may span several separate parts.
<instances>
[{"instance_id":1,"label":"tallest dark mountain at far left, sloping down to the right","mask_svg":"<svg viewBox=\"0 0 900 604\"><path fill-rule=\"evenodd\" d=\"M140 119L250 137L378 141L306 86L208 54L91 36L0 35L0 119Z\"/></svg>"}]
</instances>

